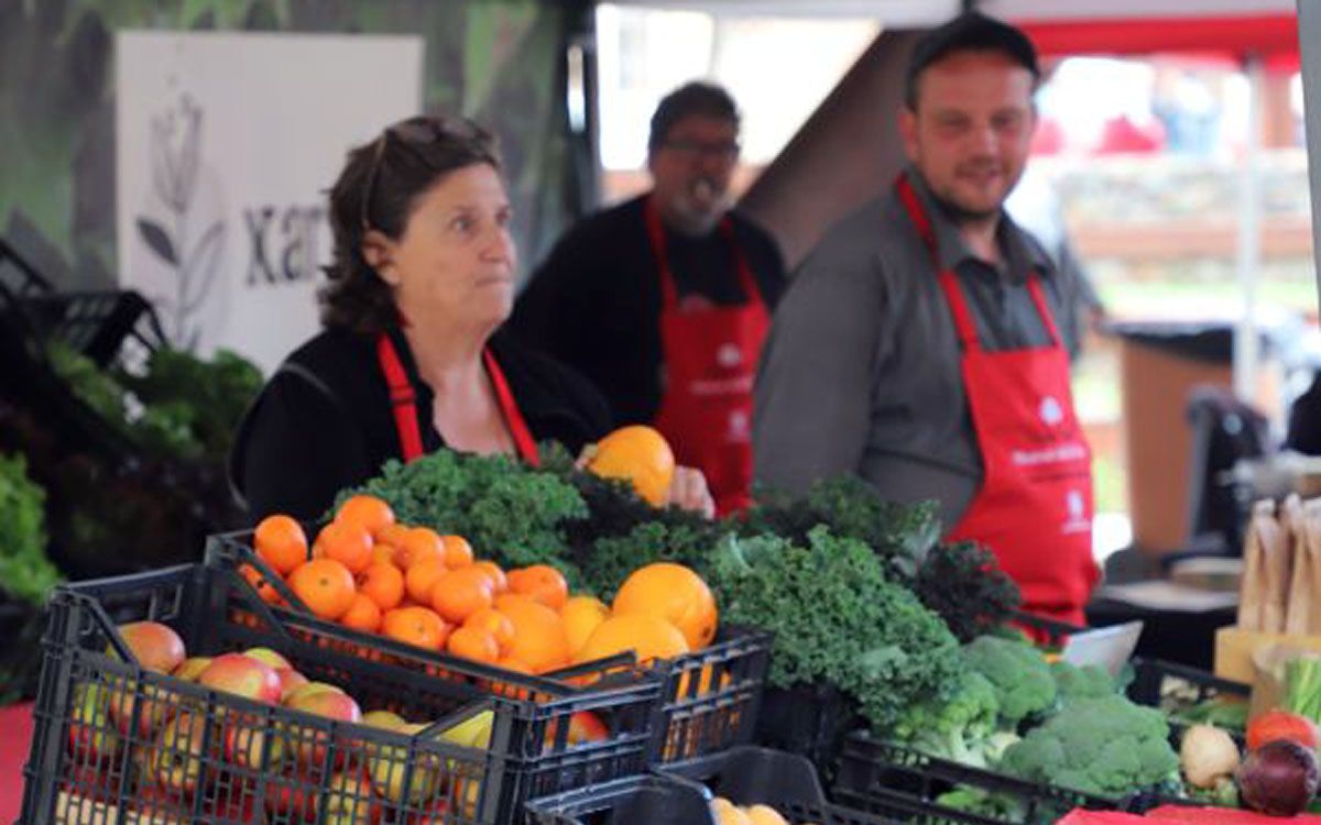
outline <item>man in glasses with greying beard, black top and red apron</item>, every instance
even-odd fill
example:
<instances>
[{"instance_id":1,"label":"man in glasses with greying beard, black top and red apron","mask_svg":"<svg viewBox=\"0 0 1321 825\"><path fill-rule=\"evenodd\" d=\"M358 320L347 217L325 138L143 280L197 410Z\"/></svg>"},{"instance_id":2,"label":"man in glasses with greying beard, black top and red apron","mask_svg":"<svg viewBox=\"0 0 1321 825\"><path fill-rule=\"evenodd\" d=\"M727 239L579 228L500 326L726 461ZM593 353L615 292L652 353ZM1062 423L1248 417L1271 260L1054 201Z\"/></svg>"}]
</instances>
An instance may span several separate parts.
<instances>
[{"instance_id":1,"label":"man in glasses with greying beard, black top and red apron","mask_svg":"<svg viewBox=\"0 0 1321 825\"><path fill-rule=\"evenodd\" d=\"M752 385L785 282L775 242L729 207L737 160L729 94L672 91L651 116L651 191L573 226L513 319L601 389L616 425L659 429L721 513L749 503Z\"/></svg>"}]
</instances>

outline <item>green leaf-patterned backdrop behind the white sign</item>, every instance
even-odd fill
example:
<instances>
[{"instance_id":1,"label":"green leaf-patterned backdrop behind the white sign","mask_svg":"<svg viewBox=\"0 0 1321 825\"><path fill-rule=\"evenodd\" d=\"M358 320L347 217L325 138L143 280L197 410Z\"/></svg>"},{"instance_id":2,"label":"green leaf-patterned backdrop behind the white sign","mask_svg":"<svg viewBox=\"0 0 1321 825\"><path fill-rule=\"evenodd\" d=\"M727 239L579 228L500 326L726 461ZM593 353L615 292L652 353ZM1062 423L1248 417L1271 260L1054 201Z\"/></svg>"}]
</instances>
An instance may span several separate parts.
<instances>
[{"instance_id":1,"label":"green leaf-patterned backdrop behind the white sign","mask_svg":"<svg viewBox=\"0 0 1321 825\"><path fill-rule=\"evenodd\" d=\"M116 280L119 29L420 34L425 110L469 115L499 135L515 235L530 264L565 222L561 54L575 5L0 0L0 234L59 286L103 288Z\"/></svg>"}]
</instances>

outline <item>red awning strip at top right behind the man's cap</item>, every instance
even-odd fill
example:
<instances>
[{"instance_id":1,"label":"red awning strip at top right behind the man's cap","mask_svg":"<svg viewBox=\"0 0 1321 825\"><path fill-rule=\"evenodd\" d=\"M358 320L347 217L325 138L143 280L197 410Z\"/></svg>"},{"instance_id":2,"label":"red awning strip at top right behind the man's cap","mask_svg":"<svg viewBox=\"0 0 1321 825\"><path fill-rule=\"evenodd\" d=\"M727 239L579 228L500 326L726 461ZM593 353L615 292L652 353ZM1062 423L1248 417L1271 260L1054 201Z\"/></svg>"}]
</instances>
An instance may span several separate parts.
<instances>
[{"instance_id":1,"label":"red awning strip at top right behind the man's cap","mask_svg":"<svg viewBox=\"0 0 1321 825\"><path fill-rule=\"evenodd\" d=\"M1223 53L1262 57L1269 69L1299 67L1293 15L1015 21L1042 55Z\"/></svg>"}]
</instances>

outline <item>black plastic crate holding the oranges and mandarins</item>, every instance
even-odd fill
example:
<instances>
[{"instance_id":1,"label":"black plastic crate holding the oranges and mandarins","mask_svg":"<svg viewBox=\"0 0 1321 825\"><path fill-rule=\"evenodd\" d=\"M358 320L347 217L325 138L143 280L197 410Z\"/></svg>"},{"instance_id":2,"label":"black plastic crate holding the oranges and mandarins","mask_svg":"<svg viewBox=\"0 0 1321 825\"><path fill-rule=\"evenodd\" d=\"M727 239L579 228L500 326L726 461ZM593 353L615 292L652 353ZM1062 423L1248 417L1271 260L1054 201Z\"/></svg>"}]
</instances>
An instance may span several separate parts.
<instances>
[{"instance_id":1,"label":"black plastic crate holding the oranges and mandarins","mask_svg":"<svg viewBox=\"0 0 1321 825\"><path fill-rule=\"evenodd\" d=\"M303 620L317 623L310 611L277 581L273 572L252 550L252 531L211 536L206 557L207 564L230 570L236 570L240 565L254 566L273 583L292 610L303 615ZM358 644L388 642L380 636L354 634L345 628L339 631L346 636L355 636ZM454 661L462 661L443 652L398 647L410 651L417 667L448 668ZM660 706L662 719L657 725L650 760L666 763L691 759L750 743L756 734L766 669L770 667L770 634L723 624L709 645L667 661L663 665L667 677L662 692L664 697ZM620 657L605 661L618 663ZM472 663L468 664L474 667ZM589 663L585 667L606 669L604 663ZM506 673L498 668L486 669L493 678ZM580 672L581 668L569 668L551 676L563 681Z\"/></svg>"}]
</instances>

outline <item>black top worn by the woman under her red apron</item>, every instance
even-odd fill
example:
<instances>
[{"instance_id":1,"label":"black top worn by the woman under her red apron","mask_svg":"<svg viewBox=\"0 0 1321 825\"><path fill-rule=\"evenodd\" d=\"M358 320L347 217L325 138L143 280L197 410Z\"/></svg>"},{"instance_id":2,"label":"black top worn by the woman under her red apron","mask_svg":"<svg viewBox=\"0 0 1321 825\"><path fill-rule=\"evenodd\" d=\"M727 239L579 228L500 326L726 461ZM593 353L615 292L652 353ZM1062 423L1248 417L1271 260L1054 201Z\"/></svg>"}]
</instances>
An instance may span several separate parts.
<instances>
[{"instance_id":1,"label":"black top worn by the woman under her red apron","mask_svg":"<svg viewBox=\"0 0 1321 825\"><path fill-rule=\"evenodd\" d=\"M399 330L395 348L417 396L423 450L445 446L432 421L431 387ZM503 331L489 342L536 441L577 454L609 430L609 409L580 375L527 351ZM230 457L230 478L254 521L272 512L317 519L334 496L375 477L403 449L376 339L328 329L280 366L248 409Z\"/></svg>"}]
</instances>

